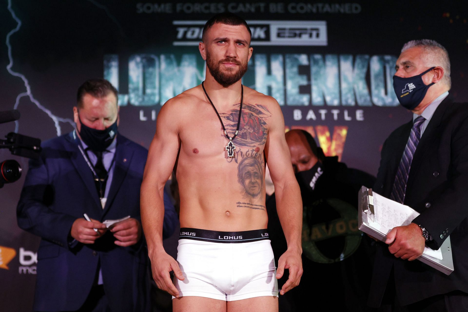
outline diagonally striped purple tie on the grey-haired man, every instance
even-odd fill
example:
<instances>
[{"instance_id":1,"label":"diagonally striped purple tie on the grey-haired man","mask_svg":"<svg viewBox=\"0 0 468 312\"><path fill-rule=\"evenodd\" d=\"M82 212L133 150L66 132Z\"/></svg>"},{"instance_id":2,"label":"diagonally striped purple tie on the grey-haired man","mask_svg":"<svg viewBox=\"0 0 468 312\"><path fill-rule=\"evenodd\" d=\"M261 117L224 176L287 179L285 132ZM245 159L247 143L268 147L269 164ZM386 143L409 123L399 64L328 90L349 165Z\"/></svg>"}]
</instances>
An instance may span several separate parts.
<instances>
[{"instance_id":1,"label":"diagonally striped purple tie on the grey-haired man","mask_svg":"<svg viewBox=\"0 0 468 312\"><path fill-rule=\"evenodd\" d=\"M411 168L411 161L413 160L414 152L416 151L419 138L421 137L421 127L424 124L424 120L426 119L424 119L423 116L417 117L411 128L408 143L406 143L400 166L398 166L398 171L396 171L395 183L393 184L392 193L390 195L390 199L393 201L403 203L405 199L409 168Z\"/></svg>"}]
</instances>

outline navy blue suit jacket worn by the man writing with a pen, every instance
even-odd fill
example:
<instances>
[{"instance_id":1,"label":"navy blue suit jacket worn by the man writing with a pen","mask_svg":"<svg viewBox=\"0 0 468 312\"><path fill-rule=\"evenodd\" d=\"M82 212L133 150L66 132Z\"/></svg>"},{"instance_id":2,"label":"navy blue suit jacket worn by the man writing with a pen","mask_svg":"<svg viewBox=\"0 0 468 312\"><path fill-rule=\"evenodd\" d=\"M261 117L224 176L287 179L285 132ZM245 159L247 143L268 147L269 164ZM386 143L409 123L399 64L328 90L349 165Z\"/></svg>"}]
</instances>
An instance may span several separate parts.
<instances>
[{"instance_id":1,"label":"navy blue suit jacket worn by the man writing with a pen","mask_svg":"<svg viewBox=\"0 0 468 312\"><path fill-rule=\"evenodd\" d=\"M29 163L18 203L18 225L42 238L34 310L79 309L96 282L100 263L113 312L149 311L144 238L136 245L120 247L108 231L95 244L69 244L72 224L84 213L101 222L126 215L140 220L139 195L147 150L117 135L114 174L102 209L78 140L71 133L43 143L40 158ZM164 219L166 232L172 232L177 215L167 196Z\"/></svg>"}]
</instances>

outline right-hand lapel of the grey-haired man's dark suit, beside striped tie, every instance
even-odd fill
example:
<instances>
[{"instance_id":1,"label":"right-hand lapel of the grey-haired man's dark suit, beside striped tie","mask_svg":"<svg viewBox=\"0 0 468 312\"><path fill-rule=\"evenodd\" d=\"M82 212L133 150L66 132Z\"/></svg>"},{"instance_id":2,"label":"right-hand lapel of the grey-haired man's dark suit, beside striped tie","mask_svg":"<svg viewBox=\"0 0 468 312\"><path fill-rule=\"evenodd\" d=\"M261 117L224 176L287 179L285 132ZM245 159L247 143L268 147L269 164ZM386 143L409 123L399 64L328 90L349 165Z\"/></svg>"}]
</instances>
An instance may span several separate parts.
<instances>
[{"instance_id":1,"label":"right-hand lapel of the grey-haired man's dark suit, beside striped tie","mask_svg":"<svg viewBox=\"0 0 468 312\"><path fill-rule=\"evenodd\" d=\"M437 138L439 133L438 127L440 126L442 118L444 117L445 111L452 102L453 100L450 96L446 97L439 104L439 107L437 107L436 111L434 111L434 114L432 115L429 124L424 130L424 133L421 136L421 139L419 140L416 151L414 153L413 160L411 161L411 167L409 169L408 174L408 181L406 183L406 190L409 189L415 177L417 176L416 172L422 160L424 159L424 156L427 153L429 147L431 146L431 142Z\"/></svg>"}]
</instances>

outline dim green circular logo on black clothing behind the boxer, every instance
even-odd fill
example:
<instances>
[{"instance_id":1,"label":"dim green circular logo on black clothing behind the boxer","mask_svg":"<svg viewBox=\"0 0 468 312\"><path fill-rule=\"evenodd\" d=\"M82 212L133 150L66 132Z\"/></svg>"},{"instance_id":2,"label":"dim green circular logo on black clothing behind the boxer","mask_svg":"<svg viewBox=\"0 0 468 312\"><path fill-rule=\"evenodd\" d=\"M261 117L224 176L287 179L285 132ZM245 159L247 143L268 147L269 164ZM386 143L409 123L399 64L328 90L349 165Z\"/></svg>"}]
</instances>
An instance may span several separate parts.
<instances>
[{"instance_id":1,"label":"dim green circular logo on black clothing behind the boxer","mask_svg":"<svg viewBox=\"0 0 468 312\"><path fill-rule=\"evenodd\" d=\"M323 213L339 217L314 223L316 215ZM362 233L358 229L357 217L356 208L336 198L321 199L304 207L302 253L318 263L335 263L348 258L361 243ZM336 244L336 239L340 237L343 244ZM330 257L330 254L336 256Z\"/></svg>"}]
</instances>

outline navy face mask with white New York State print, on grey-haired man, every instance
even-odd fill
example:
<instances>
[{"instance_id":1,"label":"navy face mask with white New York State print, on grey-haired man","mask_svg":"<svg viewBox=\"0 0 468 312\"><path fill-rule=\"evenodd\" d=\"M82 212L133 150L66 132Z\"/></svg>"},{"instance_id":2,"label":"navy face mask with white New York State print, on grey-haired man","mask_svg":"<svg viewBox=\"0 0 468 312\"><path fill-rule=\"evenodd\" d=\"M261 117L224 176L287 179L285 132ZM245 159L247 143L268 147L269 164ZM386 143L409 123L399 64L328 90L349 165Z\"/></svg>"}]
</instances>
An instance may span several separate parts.
<instances>
[{"instance_id":1,"label":"navy face mask with white New York State print, on grey-haired man","mask_svg":"<svg viewBox=\"0 0 468 312\"><path fill-rule=\"evenodd\" d=\"M404 108L413 110L423 101L427 89L435 82L425 85L422 77L434 68L436 67L431 67L421 74L408 78L393 76L393 89L398 101Z\"/></svg>"}]
</instances>

